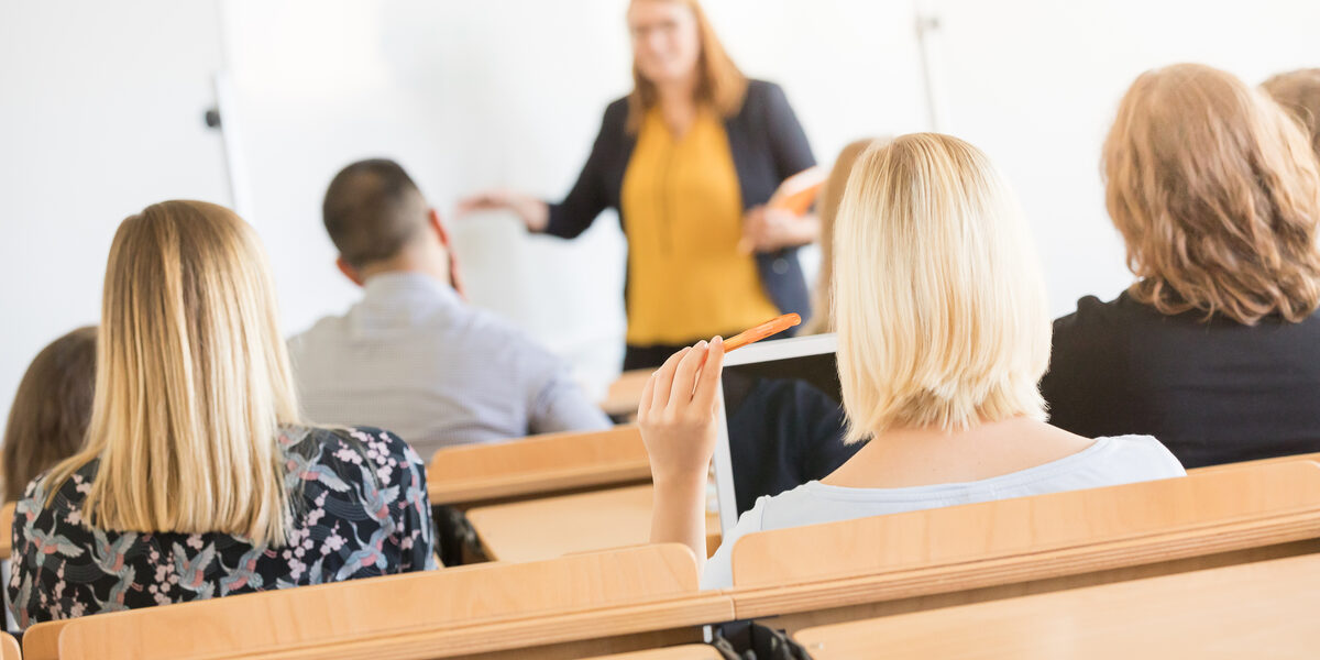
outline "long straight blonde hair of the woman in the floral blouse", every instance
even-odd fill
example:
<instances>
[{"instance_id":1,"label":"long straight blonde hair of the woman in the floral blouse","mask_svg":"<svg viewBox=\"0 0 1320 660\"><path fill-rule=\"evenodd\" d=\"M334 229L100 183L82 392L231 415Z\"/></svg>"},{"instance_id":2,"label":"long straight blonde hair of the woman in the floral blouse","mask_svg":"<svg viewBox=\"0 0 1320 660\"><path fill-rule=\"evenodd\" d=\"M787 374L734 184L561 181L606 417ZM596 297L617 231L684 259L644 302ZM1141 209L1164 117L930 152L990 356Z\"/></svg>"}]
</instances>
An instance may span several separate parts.
<instances>
[{"instance_id":1,"label":"long straight blonde hair of the woman in the floral blouse","mask_svg":"<svg viewBox=\"0 0 1320 660\"><path fill-rule=\"evenodd\" d=\"M92 527L288 541L281 425L298 424L269 267L234 211L148 206L110 248L86 447Z\"/></svg>"}]
</instances>

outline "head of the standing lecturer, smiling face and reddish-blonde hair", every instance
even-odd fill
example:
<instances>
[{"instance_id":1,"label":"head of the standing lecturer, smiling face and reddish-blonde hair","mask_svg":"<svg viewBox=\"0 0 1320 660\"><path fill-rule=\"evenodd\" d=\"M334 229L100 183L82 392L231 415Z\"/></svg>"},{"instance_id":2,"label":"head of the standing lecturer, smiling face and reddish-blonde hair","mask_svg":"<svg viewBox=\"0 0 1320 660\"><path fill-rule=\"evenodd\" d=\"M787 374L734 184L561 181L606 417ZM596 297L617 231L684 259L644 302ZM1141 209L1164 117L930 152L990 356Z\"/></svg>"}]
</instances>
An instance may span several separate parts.
<instances>
[{"instance_id":1,"label":"head of the standing lecturer, smiling face and reddish-blonde hair","mask_svg":"<svg viewBox=\"0 0 1320 660\"><path fill-rule=\"evenodd\" d=\"M721 116L737 115L747 92L738 70L697 0L632 0L632 94L628 131L660 102L661 88L690 88L694 100Z\"/></svg>"}]
</instances>

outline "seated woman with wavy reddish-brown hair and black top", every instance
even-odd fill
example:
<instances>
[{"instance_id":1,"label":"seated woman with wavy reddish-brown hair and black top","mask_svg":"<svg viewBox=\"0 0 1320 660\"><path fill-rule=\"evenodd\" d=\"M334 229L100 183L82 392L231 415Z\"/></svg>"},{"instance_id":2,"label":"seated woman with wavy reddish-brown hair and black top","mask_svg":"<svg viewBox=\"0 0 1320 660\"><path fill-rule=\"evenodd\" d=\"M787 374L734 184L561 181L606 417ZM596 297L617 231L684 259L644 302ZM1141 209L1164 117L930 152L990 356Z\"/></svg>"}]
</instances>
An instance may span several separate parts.
<instances>
[{"instance_id":1,"label":"seated woman with wavy reddish-brown hair and black top","mask_svg":"<svg viewBox=\"0 0 1320 660\"><path fill-rule=\"evenodd\" d=\"M1320 172L1296 123L1233 75L1137 78L1104 148L1137 276L1055 321L1055 425L1148 433L1187 467L1320 451Z\"/></svg>"}]
</instances>

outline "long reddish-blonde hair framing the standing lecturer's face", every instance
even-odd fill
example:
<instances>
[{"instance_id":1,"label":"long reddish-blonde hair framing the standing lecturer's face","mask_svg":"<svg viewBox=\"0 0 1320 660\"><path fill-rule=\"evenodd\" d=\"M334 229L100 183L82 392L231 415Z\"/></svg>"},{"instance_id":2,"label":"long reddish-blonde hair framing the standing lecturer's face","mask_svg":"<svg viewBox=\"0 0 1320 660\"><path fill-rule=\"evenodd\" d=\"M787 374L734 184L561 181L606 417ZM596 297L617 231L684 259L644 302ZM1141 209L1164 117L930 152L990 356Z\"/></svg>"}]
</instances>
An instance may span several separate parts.
<instances>
[{"instance_id":1,"label":"long reddish-blonde hair framing the standing lecturer's face","mask_svg":"<svg viewBox=\"0 0 1320 660\"><path fill-rule=\"evenodd\" d=\"M632 0L643 1L643 0ZM644 0L657 1L657 0ZM697 40L701 42L701 55L697 59L697 103L714 110L722 117L731 117L742 111L747 95L747 77L734 65L729 51L715 36L715 28L697 0L660 0L678 3L692 11L697 21ZM642 117L659 102L653 82L642 75L642 69L632 63L632 92L628 94L627 132L642 129Z\"/></svg>"}]
</instances>

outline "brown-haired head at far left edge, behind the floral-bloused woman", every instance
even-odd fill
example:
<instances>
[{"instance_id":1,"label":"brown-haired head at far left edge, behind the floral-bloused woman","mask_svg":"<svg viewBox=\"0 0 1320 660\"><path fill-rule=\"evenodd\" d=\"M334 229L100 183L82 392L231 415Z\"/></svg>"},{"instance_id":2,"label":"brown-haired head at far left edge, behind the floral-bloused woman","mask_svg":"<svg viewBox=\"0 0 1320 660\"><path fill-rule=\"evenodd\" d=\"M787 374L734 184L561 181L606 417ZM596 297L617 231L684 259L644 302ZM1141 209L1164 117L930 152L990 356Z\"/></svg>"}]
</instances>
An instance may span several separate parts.
<instances>
[{"instance_id":1,"label":"brown-haired head at far left edge, behind the floral-bloused woman","mask_svg":"<svg viewBox=\"0 0 1320 660\"><path fill-rule=\"evenodd\" d=\"M4 500L82 447L96 380L96 327L79 327L28 366L4 428Z\"/></svg>"}]
</instances>

